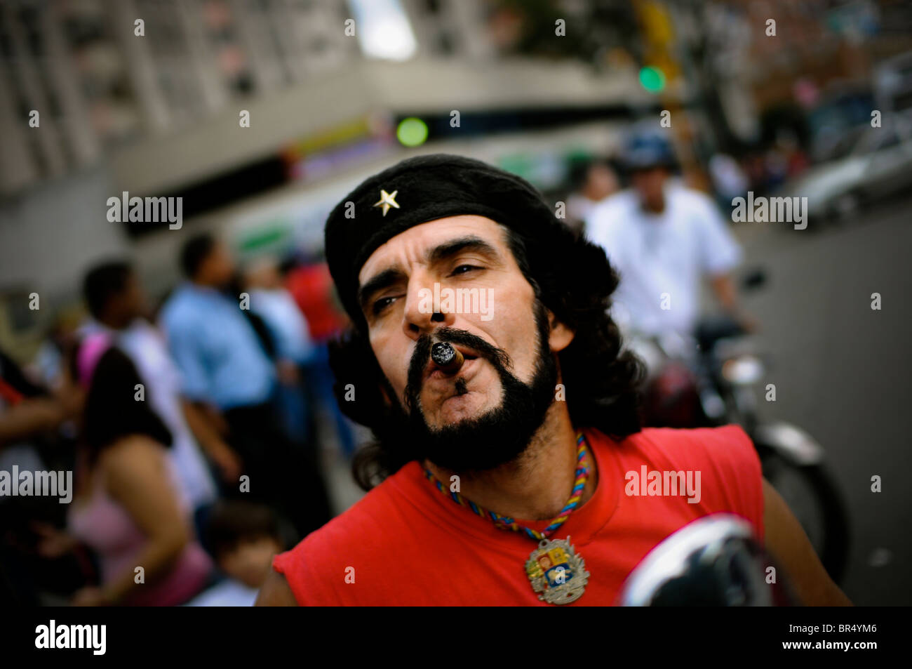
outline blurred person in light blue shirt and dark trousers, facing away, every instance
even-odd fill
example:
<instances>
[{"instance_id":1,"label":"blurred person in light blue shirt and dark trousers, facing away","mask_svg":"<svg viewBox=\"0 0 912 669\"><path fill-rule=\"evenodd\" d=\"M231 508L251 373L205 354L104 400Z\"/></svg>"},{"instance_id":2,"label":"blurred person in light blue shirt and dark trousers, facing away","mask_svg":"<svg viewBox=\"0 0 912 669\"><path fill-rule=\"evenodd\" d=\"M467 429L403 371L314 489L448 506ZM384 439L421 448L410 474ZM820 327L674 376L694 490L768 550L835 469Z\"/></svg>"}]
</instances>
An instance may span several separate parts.
<instances>
[{"instance_id":1,"label":"blurred person in light blue shirt and dark trousers, facing away","mask_svg":"<svg viewBox=\"0 0 912 669\"><path fill-rule=\"evenodd\" d=\"M304 537L332 513L315 449L289 437L276 409L275 341L268 332L261 339L241 296L223 292L234 263L212 235L188 241L181 266L188 280L161 309L161 326L181 371L182 392L214 424L222 423L247 476L244 497L274 507ZM238 490L226 485L223 494Z\"/></svg>"}]
</instances>

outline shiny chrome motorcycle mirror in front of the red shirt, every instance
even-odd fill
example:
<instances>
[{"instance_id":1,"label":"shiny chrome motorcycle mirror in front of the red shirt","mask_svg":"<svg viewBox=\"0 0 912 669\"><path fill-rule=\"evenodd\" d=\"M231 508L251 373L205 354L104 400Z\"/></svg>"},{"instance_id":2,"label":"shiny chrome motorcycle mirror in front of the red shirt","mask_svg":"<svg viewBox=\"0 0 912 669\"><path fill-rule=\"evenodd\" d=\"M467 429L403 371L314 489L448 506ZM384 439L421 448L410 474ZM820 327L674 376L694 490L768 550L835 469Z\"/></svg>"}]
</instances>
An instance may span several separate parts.
<instances>
[{"instance_id":1,"label":"shiny chrome motorcycle mirror in front of the red shirt","mask_svg":"<svg viewBox=\"0 0 912 669\"><path fill-rule=\"evenodd\" d=\"M748 522L732 514L711 514L652 549L630 572L617 603L787 606L794 600L778 571Z\"/></svg>"}]
</instances>

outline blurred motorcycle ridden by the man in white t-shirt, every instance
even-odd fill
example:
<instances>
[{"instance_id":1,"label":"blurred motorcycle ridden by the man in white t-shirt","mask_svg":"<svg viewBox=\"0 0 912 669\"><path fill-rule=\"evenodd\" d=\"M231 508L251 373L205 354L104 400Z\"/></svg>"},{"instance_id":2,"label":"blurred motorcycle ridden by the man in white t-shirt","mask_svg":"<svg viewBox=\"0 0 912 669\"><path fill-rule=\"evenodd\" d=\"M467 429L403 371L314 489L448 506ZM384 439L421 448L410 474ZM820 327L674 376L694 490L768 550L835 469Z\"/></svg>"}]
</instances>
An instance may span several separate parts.
<instances>
[{"instance_id":1,"label":"blurred motorcycle ridden by the man in white t-shirt","mask_svg":"<svg viewBox=\"0 0 912 669\"><path fill-rule=\"evenodd\" d=\"M753 272L743 287L765 282ZM824 447L800 427L764 422L757 415L763 356L728 317L702 319L692 336L633 333L628 345L649 371L643 392L644 423L653 427L740 424L760 456L763 476L801 522L824 568L836 583L848 559L845 504L824 465Z\"/></svg>"}]
</instances>

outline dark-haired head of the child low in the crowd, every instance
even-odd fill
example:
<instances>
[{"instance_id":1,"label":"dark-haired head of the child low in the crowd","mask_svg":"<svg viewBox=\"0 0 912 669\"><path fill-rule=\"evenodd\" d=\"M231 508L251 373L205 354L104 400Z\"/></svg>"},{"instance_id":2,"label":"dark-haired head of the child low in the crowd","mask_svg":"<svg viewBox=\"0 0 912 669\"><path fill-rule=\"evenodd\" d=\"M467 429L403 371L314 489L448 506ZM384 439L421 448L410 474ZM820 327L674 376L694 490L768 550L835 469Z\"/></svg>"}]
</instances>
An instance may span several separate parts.
<instances>
[{"instance_id":1,"label":"dark-haired head of the child low in the crowd","mask_svg":"<svg viewBox=\"0 0 912 669\"><path fill-rule=\"evenodd\" d=\"M273 556L283 549L273 510L250 502L216 504L207 523L206 538L219 567L251 588L263 585Z\"/></svg>"}]
</instances>

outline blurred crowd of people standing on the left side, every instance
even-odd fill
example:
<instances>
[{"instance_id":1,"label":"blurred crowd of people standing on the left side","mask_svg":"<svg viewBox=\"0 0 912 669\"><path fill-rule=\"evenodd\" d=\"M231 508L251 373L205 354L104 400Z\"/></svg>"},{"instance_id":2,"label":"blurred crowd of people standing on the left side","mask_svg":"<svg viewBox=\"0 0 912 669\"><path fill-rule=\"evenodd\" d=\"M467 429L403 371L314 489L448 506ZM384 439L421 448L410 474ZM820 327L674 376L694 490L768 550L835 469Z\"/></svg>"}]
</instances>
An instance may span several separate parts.
<instances>
[{"instance_id":1,"label":"blurred crowd of people standing on the left side","mask_svg":"<svg viewBox=\"0 0 912 669\"><path fill-rule=\"evenodd\" d=\"M333 516L322 446L354 451L327 341L326 264L222 240L181 251L157 308L114 259L82 278L34 361L0 351L0 470L73 472L70 503L0 499L0 600L251 605L275 553ZM13 482L16 485L16 482Z\"/></svg>"}]
</instances>

